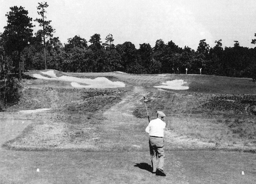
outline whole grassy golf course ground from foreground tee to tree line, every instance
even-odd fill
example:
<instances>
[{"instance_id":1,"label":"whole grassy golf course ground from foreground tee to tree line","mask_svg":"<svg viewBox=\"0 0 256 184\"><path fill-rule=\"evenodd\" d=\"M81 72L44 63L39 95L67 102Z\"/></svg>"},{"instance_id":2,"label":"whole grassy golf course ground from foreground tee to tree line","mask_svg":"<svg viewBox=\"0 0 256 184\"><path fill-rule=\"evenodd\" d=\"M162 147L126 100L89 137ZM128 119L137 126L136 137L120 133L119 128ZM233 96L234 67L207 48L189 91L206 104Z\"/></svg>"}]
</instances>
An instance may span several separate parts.
<instances>
[{"instance_id":1,"label":"whole grassy golf course ground from foreground tee to tree line","mask_svg":"<svg viewBox=\"0 0 256 184\"><path fill-rule=\"evenodd\" d=\"M51 79L22 80L19 104L1 112L1 183L256 181L256 85L248 78L26 73L34 74ZM59 80L67 76L72 81ZM74 87L74 78L106 86L84 88L92 84L78 82ZM182 80L188 89L154 87L173 80ZM166 177L150 172L143 96L150 120L156 110L167 116Z\"/></svg>"}]
</instances>

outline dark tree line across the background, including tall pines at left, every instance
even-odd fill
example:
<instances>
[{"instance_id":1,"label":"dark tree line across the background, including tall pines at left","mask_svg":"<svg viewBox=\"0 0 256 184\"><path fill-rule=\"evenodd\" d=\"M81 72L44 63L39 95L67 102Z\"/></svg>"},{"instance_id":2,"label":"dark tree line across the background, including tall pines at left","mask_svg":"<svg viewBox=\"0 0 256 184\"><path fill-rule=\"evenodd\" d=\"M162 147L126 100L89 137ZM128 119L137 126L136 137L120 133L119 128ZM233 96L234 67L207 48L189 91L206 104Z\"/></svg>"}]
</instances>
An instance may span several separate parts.
<instances>
[{"instance_id":1,"label":"dark tree line across the background, including tall pines at left","mask_svg":"<svg viewBox=\"0 0 256 184\"><path fill-rule=\"evenodd\" d=\"M55 30L46 18L48 4L38 4L40 18L34 21L42 29L35 36L32 18L23 7L11 7L6 14L8 24L1 34L1 63L9 62L13 72L51 68L64 72L158 74L185 73L188 68L188 74L199 74L202 68L202 74L230 77L252 77L256 73L256 47L242 47L238 41L234 41L233 47L223 48L220 39L210 48L204 39L193 50L188 46L181 48L172 40L164 43L159 39L153 47L143 43L136 49L132 42L114 45L112 34L104 42L100 34L94 34L89 41L76 35L63 46L58 37L53 37ZM255 44L255 39L251 43Z\"/></svg>"}]
</instances>

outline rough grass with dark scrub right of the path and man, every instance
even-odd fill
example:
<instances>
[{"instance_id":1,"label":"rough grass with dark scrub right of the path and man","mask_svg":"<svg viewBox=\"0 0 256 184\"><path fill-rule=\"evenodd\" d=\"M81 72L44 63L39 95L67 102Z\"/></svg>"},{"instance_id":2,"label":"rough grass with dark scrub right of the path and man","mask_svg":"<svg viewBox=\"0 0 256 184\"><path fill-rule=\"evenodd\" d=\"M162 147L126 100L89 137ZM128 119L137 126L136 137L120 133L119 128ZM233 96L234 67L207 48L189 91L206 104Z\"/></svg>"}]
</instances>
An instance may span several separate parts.
<instances>
[{"instance_id":1,"label":"rough grass with dark scrub right of the path and man","mask_svg":"<svg viewBox=\"0 0 256 184\"><path fill-rule=\"evenodd\" d=\"M199 138L216 147L256 146L256 116L248 108L256 102L256 95L173 94L158 91L148 95L150 119L162 110L167 115L168 128L180 135ZM232 101L231 101L232 100ZM152 114L152 112L154 114ZM146 118L145 105L134 112Z\"/></svg>"}]
</instances>

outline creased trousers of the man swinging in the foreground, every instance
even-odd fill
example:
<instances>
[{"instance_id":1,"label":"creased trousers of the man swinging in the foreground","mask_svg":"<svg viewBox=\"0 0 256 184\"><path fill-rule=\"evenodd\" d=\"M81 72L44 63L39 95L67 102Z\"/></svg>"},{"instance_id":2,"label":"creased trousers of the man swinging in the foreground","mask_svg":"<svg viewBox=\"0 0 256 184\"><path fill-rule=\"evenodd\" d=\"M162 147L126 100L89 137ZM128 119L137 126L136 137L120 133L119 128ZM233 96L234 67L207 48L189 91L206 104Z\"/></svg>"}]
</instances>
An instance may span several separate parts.
<instances>
[{"instance_id":1,"label":"creased trousers of the man swinging in the foreground","mask_svg":"<svg viewBox=\"0 0 256 184\"><path fill-rule=\"evenodd\" d=\"M164 138L149 137L149 150L152 163L152 172L156 169L164 170Z\"/></svg>"}]
</instances>

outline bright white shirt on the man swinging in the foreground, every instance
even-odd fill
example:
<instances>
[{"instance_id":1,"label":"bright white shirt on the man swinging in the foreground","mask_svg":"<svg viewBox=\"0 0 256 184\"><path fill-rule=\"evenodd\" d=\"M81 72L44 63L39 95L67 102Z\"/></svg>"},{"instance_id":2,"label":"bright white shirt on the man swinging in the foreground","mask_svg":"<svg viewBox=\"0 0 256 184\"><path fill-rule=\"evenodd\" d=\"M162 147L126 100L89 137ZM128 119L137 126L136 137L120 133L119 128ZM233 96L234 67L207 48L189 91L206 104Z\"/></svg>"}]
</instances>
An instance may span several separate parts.
<instances>
[{"instance_id":1,"label":"bright white shirt on the man swinging in the foreground","mask_svg":"<svg viewBox=\"0 0 256 184\"><path fill-rule=\"evenodd\" d=\"M156 118L149 122L146 132L149 133L149 136L164 137L165 126L165 122L163 122L160 118Z\"/></svg>"}]
</instances>

